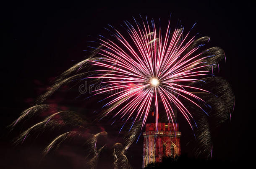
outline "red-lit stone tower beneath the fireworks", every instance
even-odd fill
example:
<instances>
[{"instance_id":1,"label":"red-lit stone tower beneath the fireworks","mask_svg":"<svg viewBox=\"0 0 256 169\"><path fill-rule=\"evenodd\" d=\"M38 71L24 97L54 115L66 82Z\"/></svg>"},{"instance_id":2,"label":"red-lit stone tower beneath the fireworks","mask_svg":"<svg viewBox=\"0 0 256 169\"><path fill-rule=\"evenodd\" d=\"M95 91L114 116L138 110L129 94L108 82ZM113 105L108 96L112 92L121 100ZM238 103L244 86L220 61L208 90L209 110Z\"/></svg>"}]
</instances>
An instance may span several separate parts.
<instances>
[{"instance_id":1,"label":"red-lit stone tower beneath the fireworks","mask_svg":"<svg viewBox=\"0 0 256 169\"><path fill-rule=\"evenodd\" d=\"M143 136L143 168L149 163L161 162L164 156L180 156L179 124L158 123L157 130L156 124L146 124Z\"/></svg>"}]
</instances>

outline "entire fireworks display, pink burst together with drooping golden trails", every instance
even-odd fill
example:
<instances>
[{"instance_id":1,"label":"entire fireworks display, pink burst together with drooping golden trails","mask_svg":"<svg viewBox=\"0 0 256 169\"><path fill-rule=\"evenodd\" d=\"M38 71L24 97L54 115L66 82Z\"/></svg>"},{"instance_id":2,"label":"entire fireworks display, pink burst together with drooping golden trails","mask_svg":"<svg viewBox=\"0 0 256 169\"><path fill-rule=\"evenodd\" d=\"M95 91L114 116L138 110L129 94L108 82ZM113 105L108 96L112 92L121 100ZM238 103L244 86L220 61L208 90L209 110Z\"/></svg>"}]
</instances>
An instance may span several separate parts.
<instances>
[{"instance_id":1,"label":"entire fireworks display, pink burst together with drooping golden trails","mask_svg":"<svg viewBox=\"0 0 256 169\"><path fill-rule=\"evenodd\" d=\"M36 124L30 124L27 129L22 128L24 131L15 142L23 144L35 134L57 131L57 136L50 139L45 147L44 155L57 149L65 141L70 141L84 148L85 165L96 168L100 153L107 147L105 144L100 145L97 140L109 134L104 130L90 130L90 126L94 129L109 127L107 118L104 121L103 117L112 114L116 118L113 123L118 119L132 121L131 127L121 128L129 131L123 136L123 144L104 139L108 142L106 144L113 145L112 167L131 168L125 153L140 135L149 112L154 111L156 125L163 117L174 125L177 110L193 130L197 126L194 132L196 146L193 145L196 147L196 156L201 154L209 158L212 154L212 141L208 120L213 119L213 127L227 120L234 103L229 83L223 78L212 76L225 54L218 47L199 50L209 42L209 37L199 37L197 34L189 38L190 31L183 35L184 28L171 30L170 21L164 32L154 20L150 23L147 19L142 20L141 24L135 20L134 25L126 21L126 35L110 26L107 30L111 32L113 40L100 36L101 46L84 61L57 77L48 91L37 99L36 104L22 112L10 125L12 130L34 116L43 117ZM84 99L80 102L76 100L78 103L75 106L67 105L61 99L54 99L58 96L57 92L63 92L60 90L62 86L70 86L64 91L68 93L79 82L84 83L85 79L90 79L87 81L88 86L104 84L102 88L94 90L96 102L107 101L106 104L101 102L105 104L102 105L104 108L99 108L98 105L94 107L99 110L99 114L87 112L86 109L90 101L95 99L88 99L87 105ZM89 98L91 93L79 93L78 97L81 96ZM66 99L70 99L70 96ZM65 105L73 110L63 110L56 105ZM86 113L78 112L79 108L84 108ZM160 115L162 109L165 113ZM114 132L112 128L109 131ZM83 140L82 144L76 140Z\"/></svg>"}]
</instances>

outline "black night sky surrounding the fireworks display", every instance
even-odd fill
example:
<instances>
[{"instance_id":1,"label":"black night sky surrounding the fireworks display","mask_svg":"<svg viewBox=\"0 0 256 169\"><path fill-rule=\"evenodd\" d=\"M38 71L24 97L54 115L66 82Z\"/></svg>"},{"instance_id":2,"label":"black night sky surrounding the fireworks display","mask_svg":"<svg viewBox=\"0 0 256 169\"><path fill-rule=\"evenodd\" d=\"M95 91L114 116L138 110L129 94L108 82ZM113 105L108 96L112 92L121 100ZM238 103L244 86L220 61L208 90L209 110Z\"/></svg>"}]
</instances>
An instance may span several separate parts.
<instances>
[{"instance_id":1,"label":"black night sky surrounding the fireworks display","mask_svg":"<svg viewBox=\"0 0 256 169\"><path fill-rule=\"evenodd\" d=\"M209 36L209 46L219 46L227 57L220 66L220 76L229 81L235 93L235 111L232 121L219 131L213 156L221 160L253 159L253 5L246 0L2 4L1 130L31 106L29 99L39 95L38 88L83 60L83 50L91 45L86 40L101 34L107 24L118 26L132 16L139 18L139 14L167 22L172 13L173 23L181 19L187 29L197 23L195 31ZM1 159L5 161L1 165L12 164L12 156L19 158L22 153L10 148L10 138L2 133Z\"/></svg>"}]
</instances>

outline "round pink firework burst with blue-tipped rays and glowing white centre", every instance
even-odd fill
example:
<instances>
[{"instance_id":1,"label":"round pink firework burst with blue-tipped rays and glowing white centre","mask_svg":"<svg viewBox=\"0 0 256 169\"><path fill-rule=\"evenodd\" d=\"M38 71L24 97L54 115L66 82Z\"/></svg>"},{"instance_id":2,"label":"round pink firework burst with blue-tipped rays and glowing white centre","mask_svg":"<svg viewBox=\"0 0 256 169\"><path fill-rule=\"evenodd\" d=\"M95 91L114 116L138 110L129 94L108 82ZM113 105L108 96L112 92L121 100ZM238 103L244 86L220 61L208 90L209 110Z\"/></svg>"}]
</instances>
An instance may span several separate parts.
<instances>
[{"instance_id":1,"label":"round pink firework burst with blue-tipped rays and glowing white centre","mask_svg":"<svg viewBox=\"0 0 256 169\"><path fill-rule=\"evenodd\" d=\"M164 107L168 120L175 121L175 107L193 129L193 117L180 98L201 108L196 100L203 100L194 93L208 91L189 84L211 74L206 67L212 65L205 63L205 57L198 52L201 45L194 45L195 36L188 39L188 33L184 37L183 28L170 33L169 21L162 33L153 20L150 25L148 20L142 24L135 20L135 23L125 22L127 37L112 28L115 40L100 38L99 54L103 58L91 61L102 72L91 78L111 84L95 90L96 94L112 92L107 97L112 100L107 103L110 108L105 116L115 111L114 117L119 115L126 121L133 118L133 124L143 118L143 127L152 108L158 124L160 106Z\"/></svg>"}]
</instances>

